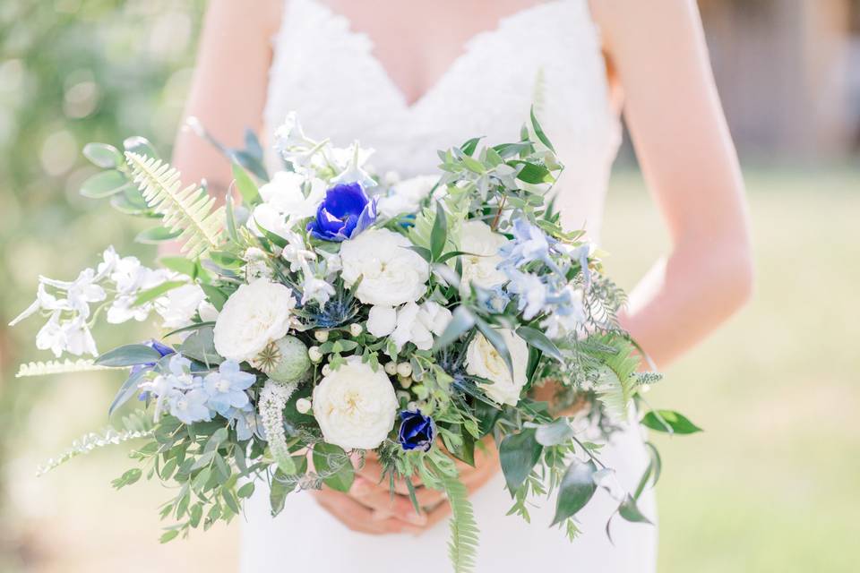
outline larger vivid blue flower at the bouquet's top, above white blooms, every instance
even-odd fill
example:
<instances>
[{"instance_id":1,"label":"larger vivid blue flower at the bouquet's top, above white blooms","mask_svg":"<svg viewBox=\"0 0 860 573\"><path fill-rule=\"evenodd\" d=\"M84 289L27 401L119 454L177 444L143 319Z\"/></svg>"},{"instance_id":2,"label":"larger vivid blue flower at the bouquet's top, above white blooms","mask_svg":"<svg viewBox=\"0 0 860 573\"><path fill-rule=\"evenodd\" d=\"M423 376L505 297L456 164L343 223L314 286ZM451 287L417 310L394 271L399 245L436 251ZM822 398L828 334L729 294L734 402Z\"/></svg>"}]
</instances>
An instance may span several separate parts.
<instances>
[{"instance_id":1,"label":"larger vivid blue flower at the bouquet's top, above white blooms","mask_svg":"<svg viewBox=\"0 0 860 573\"><path fill-rule=\"evenodd\" d=\"M376 199L367 197L360 184L339 184L325 192L316 217L307 230L323 241L346 241L376 220Z\"/></svg>"}]
</instances>

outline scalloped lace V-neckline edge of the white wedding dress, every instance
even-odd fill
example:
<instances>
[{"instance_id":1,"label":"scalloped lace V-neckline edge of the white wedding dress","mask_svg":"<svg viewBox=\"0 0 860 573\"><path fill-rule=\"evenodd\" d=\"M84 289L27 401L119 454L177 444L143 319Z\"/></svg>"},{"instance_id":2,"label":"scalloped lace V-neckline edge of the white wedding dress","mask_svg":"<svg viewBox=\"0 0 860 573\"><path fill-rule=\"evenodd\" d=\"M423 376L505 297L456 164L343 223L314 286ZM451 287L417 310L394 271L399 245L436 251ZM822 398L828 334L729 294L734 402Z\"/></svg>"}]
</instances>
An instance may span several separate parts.
<instances>
[{"instance_id":1,"label":"scalloped lace V-neckline edge of the white wedding dress","mask_svg":"<svg viewBox=\"0 0 860 573\"><path fill-rule=\"evenodd\" d=\"M383 81L387 84L389 90L391 90L391 92L396 96L401 109L407 113L412 113L415 112L419 107L422 107L426 100L428 98L431 98L436 91L442 89L445 82L451 76L452 71L459 67L471 56L474 47L479 40L492 38L495 35L500 34L506 26L511 24L512 21L516 21L534 11L545 8L548 5L563 4L565 0L547 0L538 2L537 4L532 4L526 8L521 8L520 10L517 10L515 12L501 16L495 22L495 25L491 28L487 28L486 30L477 30L460 45L460 49L458 50L457 55L454 56L451 62L449 62L449 64L444 68L443 73L439 74L434 79L434 81L431 81L428 84L426 90L418 94L417 98L412 101L409 101L406 90L403 90L400 87L400 84L398 84L397 81L394 81L394 78L391 76L391 73L389 73L388 67L383 63L383 60L379 56L377 56L376 42L374 41L374 38L370 36L370 34L368 34L366 31L357 30L346 14L336 11L329 4L325 4L322 0L307 1L316 4L325 13L327 13L331 19L342 21L343 28L348 34L348 36L351 36L353 38L362 38L366 42L365 55L374 64L374 67L378 69L380 76L383 78Z\"/></svg>"}]
</instances>

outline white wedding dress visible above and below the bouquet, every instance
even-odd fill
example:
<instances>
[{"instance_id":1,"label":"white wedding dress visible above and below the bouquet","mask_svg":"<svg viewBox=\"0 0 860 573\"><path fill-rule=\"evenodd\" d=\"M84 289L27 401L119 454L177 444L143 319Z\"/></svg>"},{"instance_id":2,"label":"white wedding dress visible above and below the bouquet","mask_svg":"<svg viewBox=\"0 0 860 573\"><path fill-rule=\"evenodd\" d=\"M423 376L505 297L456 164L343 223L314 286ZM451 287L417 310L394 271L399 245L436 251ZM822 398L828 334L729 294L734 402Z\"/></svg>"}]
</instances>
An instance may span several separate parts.
<instances>
[{"instance_id":1,"label":"white wedding dress visible above and below the bouquet","mask_svg":"<svg viewBox=\"0 0 860 573\"><path fill-rule=\"evenodd\" d=\"M265 129L295 110L311 137L336 145L360 140L375 150L378 173L432 174L436 150L483 135L491 143L516 141L534 102L565 170L556 205L568 228L598 239L606 182L620 141L619 118L607 98L599 31L587 0L556 0L504 17L478 33L443 77L409 105L373 55L365 34L322 0L287 0L273 39ZM633 491L647 465L641 430L615 434L601 458ZM648 573L656 568L656 526L615 517L604 490L579 514L582 535L573 543L550 528L554 503L537 500L531 524L506 517L510 494L496 475L472 496L481 530L477 571L596 571ZM656 521L651 492L642 512ZM258 483L243 524L242 571L353 571L429 573L450 570L448 525L425 535L364 535L348 530L304 492L288 496L270 517L268 491Z\"/></svg>"}]
</instances>

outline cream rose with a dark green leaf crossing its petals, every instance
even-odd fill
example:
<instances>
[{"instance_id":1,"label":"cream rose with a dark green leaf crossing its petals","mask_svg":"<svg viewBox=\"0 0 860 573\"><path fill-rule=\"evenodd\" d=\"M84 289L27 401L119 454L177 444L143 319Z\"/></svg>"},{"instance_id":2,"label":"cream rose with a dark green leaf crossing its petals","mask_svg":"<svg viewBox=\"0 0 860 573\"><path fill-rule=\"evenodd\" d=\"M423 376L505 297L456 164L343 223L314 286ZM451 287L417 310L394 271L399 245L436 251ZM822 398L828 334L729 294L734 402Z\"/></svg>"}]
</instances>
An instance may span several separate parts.
<instances>
[{"instance_id":1,"label":"cream rose with a dark green leaf crossing its petals","mask_svg":"<svg viewBox=\"0 0 860 573\"><path fill-rule=\"evenodd\" d=\"M513 378L504 359L484 335L477 334L466 349L466 372L492 381L492 384L478 384L486 395L499 404L516 406L520 392L526 385L526 367L529 363L529 346L512 330L498 329L511 353Z\"/></svg>"}]
</instances>

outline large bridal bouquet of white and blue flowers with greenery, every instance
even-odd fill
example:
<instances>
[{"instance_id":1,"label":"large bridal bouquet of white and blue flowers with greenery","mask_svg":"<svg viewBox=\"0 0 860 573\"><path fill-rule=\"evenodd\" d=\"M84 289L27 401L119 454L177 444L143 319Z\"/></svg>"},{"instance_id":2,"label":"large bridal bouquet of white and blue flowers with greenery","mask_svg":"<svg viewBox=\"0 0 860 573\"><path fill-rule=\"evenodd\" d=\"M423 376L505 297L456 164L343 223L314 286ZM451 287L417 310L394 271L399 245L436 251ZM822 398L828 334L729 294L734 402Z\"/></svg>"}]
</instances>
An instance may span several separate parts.
<instances>
[{"instance_id":1,"label":"large bridal bouquet of white and blue flowers with greenery","mask_svg":"<svg viewBox=\"0 0 860 573\"><path fill-rule=\"evenodd\" d=\"M439 153L440 174L406 180L374 175L357 143L310 139L295 115L275 143L283 170L271 177L252 135L243 150L219 145L237 193L218 207L141 138L125 152L84 150L105 170L83 194L158 221L139 239L174 241L184 255L153 269L108 247L72 281L39 278L13 324L39 313L39 348L96 358L25 364L19 375L116 369L126 378L110 415L137 404L47 469L143 440L113 484L175 486L160 512L174 522L169 541L235 517L258 480L273 515L290 492L346 492L372 451L416 511L412 478L446 492L452 562L467 570L477 524L454 459L473 463L492 435L512 513L528 519L531 498L554 497L553 525L574 537L577 512L604 487L617 515L647 522L636 500L657 480L656 449L637 490L618 492L599 440L586 438L627 422L659 376L638 372L644 355L615 319L624 295L598 251L559 224L550 198L563 167L535 115L519 141L466 141ZM159 339L99 354L94 321L153 313ZM529 398L544 384L552 404ZM667 410L640 422L698 430Z\"/></svg>"}]
</instances>

